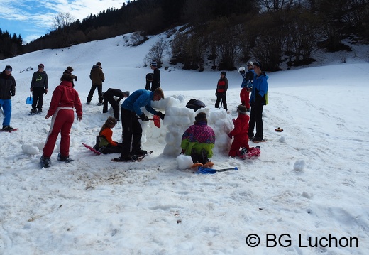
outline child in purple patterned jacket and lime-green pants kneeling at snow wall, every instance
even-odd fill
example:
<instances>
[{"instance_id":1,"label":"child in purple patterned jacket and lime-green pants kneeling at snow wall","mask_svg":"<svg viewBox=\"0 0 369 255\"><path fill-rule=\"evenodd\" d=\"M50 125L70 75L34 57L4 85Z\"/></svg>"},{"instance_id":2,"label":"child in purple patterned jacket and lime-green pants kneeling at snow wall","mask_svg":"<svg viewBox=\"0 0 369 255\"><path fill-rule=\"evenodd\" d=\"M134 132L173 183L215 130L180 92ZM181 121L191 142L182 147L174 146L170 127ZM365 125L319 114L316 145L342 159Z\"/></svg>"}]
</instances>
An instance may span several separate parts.
<instances>
[{"instance_id":1,"label":"child in purple patterned jacket and lime-green pants kneeling at snow wall","mask_svg":"<svg viewBox=\"0 0 369 255\"><path fill-rule=\"evenodd\" d=\"M194 124L182 135L182 154L191 156L194 163L206 164L213 156L214 130L208 126L204 112L197 114L194 119Z\"/></svg>"}]
</instances>

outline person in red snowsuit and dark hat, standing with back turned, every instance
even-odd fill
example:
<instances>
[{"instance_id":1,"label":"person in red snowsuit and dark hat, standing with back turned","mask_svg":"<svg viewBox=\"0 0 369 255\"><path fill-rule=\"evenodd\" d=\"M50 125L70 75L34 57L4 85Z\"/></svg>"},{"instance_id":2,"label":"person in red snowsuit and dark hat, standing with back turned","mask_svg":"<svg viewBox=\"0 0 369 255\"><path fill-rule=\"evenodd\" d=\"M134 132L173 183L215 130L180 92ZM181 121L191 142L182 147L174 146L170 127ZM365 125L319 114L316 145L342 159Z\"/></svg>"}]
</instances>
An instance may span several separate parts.
<instances>
[{"instance_id":1,"label":"person in red snowsuit and dark hat, standing with back turned","mask_svg":"<svg viewBox=\"0 0 369 255\"><path fill-rule=\"evenodd\" d=\"M54 151L55 142L60 133L60 153L57 156L58 161L69 163L72 159L69 156L70 149L70 129L75 120L76 109L77 119L82 120L82 104L79 100L78 92L73 88L73 76L69 74L62 75L60 85L55 87L53 97L51 98L48 114L45 119L51 119L50 131L43 147L43 156L40 158L41 166L48 168L51 166L51 154Z\"/></svg>"}]
</instances>

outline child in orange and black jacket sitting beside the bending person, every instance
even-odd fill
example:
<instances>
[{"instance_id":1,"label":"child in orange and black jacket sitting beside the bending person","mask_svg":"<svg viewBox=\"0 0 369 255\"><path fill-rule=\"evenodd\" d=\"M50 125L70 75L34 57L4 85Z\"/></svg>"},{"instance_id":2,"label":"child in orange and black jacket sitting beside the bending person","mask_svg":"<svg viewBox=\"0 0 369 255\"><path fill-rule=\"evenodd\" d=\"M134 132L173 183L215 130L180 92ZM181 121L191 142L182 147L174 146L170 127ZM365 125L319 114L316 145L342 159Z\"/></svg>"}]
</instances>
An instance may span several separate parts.
<instances>
[{"instance_id":1,"label":"child in orange and black jacket sitting beside the bending person","mask_svg":"<svg viewBox=\"0 0 369 255\"><path fill-rule=\"evenodd\" d=\"M104 154L122 152L122 143L118 143L112 139L113 131L111 129L116 126L116 123L116 119L109 116L104 125L101 126L99 136L96 137L97 143L94 146L97 151Z\"/></svg>"}]
</instances>

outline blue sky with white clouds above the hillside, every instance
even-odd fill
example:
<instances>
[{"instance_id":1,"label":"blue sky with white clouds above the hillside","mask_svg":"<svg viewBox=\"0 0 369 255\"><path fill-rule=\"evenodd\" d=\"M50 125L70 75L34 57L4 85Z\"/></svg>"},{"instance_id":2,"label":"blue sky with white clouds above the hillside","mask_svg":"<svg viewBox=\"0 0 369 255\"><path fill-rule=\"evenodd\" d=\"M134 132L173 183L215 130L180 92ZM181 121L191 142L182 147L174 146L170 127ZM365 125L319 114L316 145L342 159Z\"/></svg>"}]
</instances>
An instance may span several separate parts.
<instances>
[{"instance_id":1,"label":"blue sky with white clouds above the hillside","mask_svg":"<svg viewBox=\"0 0 369 255\"><path fill-rule=\"evenodd\" d=\"M89 14L98 14L108 8L120 9L124 0L78 1L14 1L0 0L0 28L11 36L21 35L23 43L29 43L52 31L53 17L60 12L70 13L82 21Z\"/></svg>"}]
</instances>

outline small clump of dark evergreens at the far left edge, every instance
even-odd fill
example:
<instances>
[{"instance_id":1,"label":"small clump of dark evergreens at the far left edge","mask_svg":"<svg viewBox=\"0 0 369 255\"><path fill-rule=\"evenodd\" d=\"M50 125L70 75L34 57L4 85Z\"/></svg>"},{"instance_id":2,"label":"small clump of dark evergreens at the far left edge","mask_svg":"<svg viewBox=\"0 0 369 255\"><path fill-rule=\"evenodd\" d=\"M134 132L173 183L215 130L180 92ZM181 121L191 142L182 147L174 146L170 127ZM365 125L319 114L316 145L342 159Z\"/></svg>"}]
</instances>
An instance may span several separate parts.
<instances>
[{"instance_id":1,"label":"small clump of dark evergreens at the far left edge","mask_svg":"<svg viewBox=\"0 0 369 255\"><path fill-rule=\"evenodd\" d=\"M9 34L8 31L2 31L0 29L0 59L11 58L13 56L19 55L23 50L23 39L22 37L13 36Z\"/></svg>"}]
</instances>

